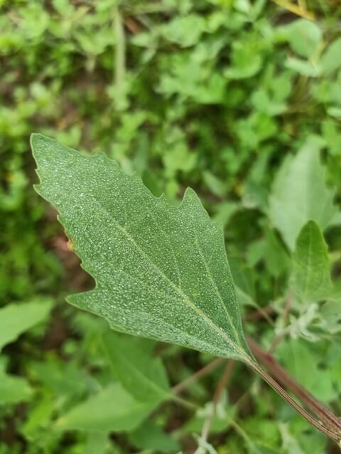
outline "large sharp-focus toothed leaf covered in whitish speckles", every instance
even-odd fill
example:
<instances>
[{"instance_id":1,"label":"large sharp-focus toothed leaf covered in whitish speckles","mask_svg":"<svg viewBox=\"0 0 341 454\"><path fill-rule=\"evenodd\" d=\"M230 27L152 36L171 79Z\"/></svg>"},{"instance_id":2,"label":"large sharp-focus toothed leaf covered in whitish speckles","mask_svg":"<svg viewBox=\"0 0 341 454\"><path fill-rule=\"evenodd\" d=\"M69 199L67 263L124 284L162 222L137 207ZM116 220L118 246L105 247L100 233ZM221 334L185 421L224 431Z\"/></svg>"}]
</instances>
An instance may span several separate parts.
<instances>
[{"instance_id":1,"label":"large sharp-focus toothed leaf covered in whitish speckles","mask_svg":"<svg viewBox=\"0 0 341 454\"><path fill-rule=\"evenodd\" d=\"M41 184L84 269L96 279L71 304L117 331L252 362L221 226L192 189L181 205L153 196L99 153L33 135Z\"/></svg>"}]
</instances>

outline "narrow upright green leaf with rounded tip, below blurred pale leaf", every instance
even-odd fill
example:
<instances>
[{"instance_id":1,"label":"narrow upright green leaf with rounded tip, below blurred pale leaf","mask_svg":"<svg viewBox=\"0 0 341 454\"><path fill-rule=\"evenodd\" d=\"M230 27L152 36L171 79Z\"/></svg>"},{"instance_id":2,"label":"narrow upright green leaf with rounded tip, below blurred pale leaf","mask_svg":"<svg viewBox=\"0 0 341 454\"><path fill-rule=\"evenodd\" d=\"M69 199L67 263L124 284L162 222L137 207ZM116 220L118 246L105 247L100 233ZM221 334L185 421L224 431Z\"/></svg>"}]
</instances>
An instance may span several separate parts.
<instances>
[{"instance_id":1,"label":"narrow upright green leaf with rounded tip, below blurred pale leaf","mask_svg":"<svg viewBox=\"0 0 341 454\"><path fill-rule=\"evenodd\" d=\"M326 297L332 289L328 248L314 221L305 224L296 240L293 289L304 301Z\"/></svg>"}]
</instances>

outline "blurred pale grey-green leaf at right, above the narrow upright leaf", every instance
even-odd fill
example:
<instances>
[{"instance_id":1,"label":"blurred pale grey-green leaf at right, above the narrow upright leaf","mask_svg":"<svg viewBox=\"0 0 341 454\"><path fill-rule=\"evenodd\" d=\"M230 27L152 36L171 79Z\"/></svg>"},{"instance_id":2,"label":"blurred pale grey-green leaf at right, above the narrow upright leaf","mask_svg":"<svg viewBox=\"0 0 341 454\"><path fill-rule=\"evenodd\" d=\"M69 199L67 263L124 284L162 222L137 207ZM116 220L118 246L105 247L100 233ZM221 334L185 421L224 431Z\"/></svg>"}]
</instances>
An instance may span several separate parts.
<instances>
[{"instance_id":1,"label":"blurred pale grey-green leaf at right, above the narrow upright leaf","mask_svg":"<svg viewBox=\"0 0 341 454\"><path fill-rule=\"evenodd\" d=\"M271 189L269 217L291 250L305 223L311 219L323 229L336 213L319 148L310 138L295 157L283 162Z\"/></svg>"}]
</instances>

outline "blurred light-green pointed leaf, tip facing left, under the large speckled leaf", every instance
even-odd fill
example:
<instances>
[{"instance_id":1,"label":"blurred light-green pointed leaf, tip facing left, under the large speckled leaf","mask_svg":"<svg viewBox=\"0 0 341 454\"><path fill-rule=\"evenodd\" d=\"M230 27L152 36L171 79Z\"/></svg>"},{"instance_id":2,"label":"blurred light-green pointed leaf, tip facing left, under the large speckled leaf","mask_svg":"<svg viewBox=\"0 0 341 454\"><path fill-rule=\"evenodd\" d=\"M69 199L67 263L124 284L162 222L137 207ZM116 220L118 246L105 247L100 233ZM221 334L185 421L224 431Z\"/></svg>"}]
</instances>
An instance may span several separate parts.
<instances>
[{"instance_id":1,"label":"blurred light-green pointed leaf, tip facing left, under the large speckled leaf","mask_svg":"<svg viewBox=\"0 0 341 454\"><path fill-rule=\"evenodd\" d=\"M55 423L60 430L120 432L131 431L146 419L153 402L139 402L114 383L72 408Z\"/></svg>"}]
</instances>

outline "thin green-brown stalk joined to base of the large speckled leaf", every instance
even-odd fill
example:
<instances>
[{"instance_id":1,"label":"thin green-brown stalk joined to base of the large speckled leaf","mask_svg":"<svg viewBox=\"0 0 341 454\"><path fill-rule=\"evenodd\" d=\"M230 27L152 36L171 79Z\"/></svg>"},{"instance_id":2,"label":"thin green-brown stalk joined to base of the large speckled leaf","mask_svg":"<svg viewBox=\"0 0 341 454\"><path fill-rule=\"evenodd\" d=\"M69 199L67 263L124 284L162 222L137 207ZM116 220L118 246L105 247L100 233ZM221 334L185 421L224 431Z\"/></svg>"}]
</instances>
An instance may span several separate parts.
<instances>
[{"instance_id":1,"label":"thin green-brown stalk joined to base of the large speckled leaf","mask_svg":"<svg viewBox=\"0 0 341 454\"><path fill-rule=\"evenodd\" d=\"M249 365L250 367L255 371L257 372L262 378L263 380L268 383L281 397L283 397L283 399L286 400L286 402L288 402L288 404L291 404L291 406L296 410L298 411L299 414L301 414L301 416L303 416L303 418L308 421L308 423L310 423L313 427L317 428L318 431L324 433L326 436L328 436L329 438L331 438L332 440L336 441L337 443L340 443L340 440L341 440L341 431L339 428L335 428L335 427L330 427L330 425L328 424L328 426L325 426L323 424L323 422L321 421L318 421L317 419L315 419L313 416L311 416L310 413L308 413L308 411L306 411L305 409L303 409L286 391L285 389L283 389L281 387L280 384L278 384L276 382L276 380L274 380L267 372L265 372L265 370L263 370L261 368L261 366L257 363L257 362L249 362Z\"/></svg>"}]
</instances>

